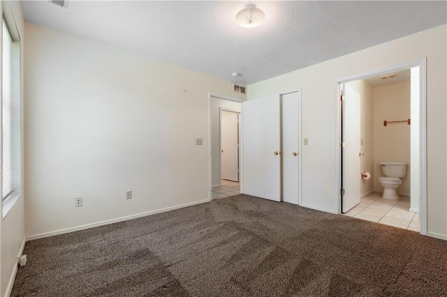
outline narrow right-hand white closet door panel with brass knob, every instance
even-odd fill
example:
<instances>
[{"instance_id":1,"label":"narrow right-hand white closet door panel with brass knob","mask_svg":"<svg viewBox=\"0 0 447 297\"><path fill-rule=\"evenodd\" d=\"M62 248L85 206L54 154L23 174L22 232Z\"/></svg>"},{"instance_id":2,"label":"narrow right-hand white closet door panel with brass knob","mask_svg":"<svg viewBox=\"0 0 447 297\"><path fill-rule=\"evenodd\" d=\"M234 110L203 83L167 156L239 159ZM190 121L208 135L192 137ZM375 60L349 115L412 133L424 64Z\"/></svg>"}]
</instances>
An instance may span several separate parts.
<instances>
[{"instance_id":1,"label":"narrow right-hand white closet door panel with brass knob","mask_svg":"<svg viewBox=\"0 0 447 297\"><path fill-rule=\"evenodd\" d=\"M281 96L283 201L298 204L299 92Z\"/></svg>"}]
</instances>

